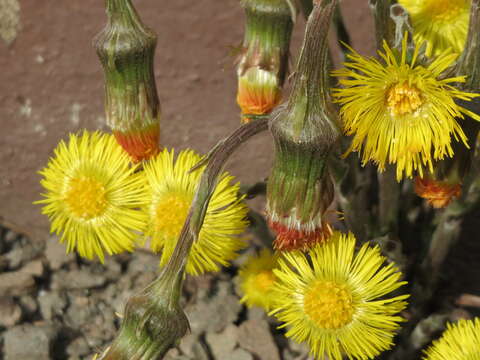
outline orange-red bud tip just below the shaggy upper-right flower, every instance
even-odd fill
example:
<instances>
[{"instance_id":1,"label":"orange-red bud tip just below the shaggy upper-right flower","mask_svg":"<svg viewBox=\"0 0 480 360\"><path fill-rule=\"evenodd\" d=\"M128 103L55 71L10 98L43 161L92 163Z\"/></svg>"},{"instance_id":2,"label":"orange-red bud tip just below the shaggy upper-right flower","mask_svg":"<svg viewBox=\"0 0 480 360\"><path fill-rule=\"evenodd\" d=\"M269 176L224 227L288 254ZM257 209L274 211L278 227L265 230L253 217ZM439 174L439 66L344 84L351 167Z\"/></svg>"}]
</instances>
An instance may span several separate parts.
<instances>
[{"instance_id":1,"label":"orange-red bud tip just below the shaggy upper-right flower","mask_svg":"<svg viewBox=\"0 0 480 360\"><path fill-rule=\"evenodd\" d=\"M461 184L446 184L429 178L415 178L415 193L434 208L444 208L462 193Z\"/></svg>"}]
</instances>

